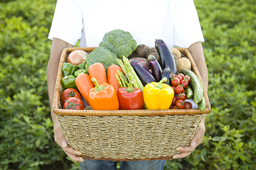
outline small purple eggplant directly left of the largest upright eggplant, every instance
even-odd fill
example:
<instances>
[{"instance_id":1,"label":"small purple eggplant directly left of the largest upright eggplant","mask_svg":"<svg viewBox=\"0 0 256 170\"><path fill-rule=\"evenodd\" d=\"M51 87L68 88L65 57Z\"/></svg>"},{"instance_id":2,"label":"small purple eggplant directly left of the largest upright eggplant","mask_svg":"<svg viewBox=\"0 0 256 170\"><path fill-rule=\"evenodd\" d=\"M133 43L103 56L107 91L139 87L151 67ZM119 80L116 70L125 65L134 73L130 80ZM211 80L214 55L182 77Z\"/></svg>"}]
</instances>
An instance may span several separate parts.
<instances>
[{"instance_id":1,"label":"small purple eggplant directly left of the largest upright eggplant","mask_svg":"<svg viewBox=\"0 0 256 170\"><path fill-rule=\"evenodd\" d=\"M151 67L151 72L155 81L159 82L161 80L162 67L158 63L154 55L148 56L149 66Z\"/></svg>"}]
</instances>

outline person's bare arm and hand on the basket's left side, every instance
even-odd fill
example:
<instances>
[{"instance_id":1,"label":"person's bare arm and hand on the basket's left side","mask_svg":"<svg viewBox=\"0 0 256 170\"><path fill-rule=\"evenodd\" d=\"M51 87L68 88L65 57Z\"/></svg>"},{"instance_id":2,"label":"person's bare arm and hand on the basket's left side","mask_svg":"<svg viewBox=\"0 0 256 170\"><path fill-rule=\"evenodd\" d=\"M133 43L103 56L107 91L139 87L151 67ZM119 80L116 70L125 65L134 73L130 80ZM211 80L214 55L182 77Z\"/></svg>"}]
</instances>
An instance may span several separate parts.
<instances>
[{"instance_id":1,"label":"person's bare arm and hand on the basket's left side","mask_svg":"<svg viewBox=\"0 0 256 170\"><path fill-rule=\"evenodd\" d=\"M52 111L52 101L54 98L54 89L55 89L55 82L57 78L57 72L60 62L60 55L62 50L66 47L73 47L73 45L68 44L58 38L53 38L52 46L51 46L51 55L49 58L48 68L47 68L47 86L48 86L48 95L49 95L49 102L51 106L51 116L52 122L54 125L54 140L60 147L62 147L63 151L65 151L66 155L74 161L84 161L83 158L77 157L77 155L82 155L80 151L75 151L74 149L68 146L65 136L60 129L59 121L56 118L56 115Z\"/></svg>"}]
</instances>

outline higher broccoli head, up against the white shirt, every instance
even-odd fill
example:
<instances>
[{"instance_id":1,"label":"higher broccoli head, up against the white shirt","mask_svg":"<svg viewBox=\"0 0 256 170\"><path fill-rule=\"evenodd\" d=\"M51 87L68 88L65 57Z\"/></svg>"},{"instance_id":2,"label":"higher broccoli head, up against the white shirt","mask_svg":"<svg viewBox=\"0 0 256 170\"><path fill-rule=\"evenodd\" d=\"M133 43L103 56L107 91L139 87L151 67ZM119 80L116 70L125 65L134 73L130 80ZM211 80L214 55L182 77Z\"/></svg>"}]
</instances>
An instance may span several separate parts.
<instances>
[{"instance_id":1,"label":"higher broccoli head, up against the white shirt","mask_svg":"<svg viewBox=\"0 0 256 170\"><path fill-rule=\"evenodd\" d=\"M105 47L115 53L118 58L126 58L137 49L137 42L129 32L123 30L113 30L105 33L99 47Z\"/></svg>"}]
</instances>

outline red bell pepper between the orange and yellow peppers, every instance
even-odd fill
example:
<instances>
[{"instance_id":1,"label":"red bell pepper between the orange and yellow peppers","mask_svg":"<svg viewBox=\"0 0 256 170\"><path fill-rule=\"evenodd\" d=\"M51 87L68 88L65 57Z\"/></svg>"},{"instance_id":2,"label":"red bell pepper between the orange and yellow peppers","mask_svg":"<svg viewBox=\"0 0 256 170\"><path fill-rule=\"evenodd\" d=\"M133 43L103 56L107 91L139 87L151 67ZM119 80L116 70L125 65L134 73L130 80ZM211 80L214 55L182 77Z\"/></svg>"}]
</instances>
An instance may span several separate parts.
<instances>
[{"instance_id":1,"label":"red bell pepper between the orange and yellow peppers","mask_svg":"<svg viewBox=\"0 0 256 170\"><path fill-rule=\"evenodd\" d=\"M120 110L143 109L144 107L143 92L141 89L132 87L132 83L133 81L129 83L128 87L118 89Z\"/></svg>"}]
</instances>

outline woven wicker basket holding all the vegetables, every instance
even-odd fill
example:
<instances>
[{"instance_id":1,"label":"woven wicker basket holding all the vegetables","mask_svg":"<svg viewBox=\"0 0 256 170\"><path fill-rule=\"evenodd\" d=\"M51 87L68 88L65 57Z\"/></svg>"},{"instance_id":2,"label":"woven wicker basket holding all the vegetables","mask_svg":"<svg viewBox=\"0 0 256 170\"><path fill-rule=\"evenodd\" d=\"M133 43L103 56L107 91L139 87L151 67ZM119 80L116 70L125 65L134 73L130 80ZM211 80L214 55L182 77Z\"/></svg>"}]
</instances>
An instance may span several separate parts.
<instances>
[{"instance_id":1,"label":"woven wicker basket holding all the vegetables","mask_svg":"<svg viewBox=\"0 0 256 170\"><path fill-rule=\"evenodd\" d=\"M179 153L178 146L189 146L207 107L166 110L68 110L62 109L60 94L62 66L73 50L91 52L95 47L63 49L55 84L53 111L71 148L94 160L168 160ZM190 59L193 71L202 81L188 49L177 48Z\"/></svg>"}]
</instances>

